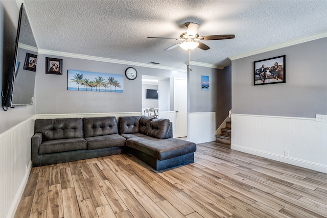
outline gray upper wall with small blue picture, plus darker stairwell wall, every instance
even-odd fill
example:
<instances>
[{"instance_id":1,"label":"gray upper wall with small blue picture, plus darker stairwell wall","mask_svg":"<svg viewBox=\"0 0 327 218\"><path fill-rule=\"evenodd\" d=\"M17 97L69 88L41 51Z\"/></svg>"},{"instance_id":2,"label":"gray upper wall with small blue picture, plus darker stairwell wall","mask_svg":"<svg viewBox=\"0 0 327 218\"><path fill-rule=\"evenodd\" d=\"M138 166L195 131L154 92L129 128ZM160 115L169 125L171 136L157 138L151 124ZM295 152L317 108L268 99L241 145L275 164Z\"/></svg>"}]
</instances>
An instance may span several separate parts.
<instances>
[{"instance_id":1,"label":"gray upper wall with small blue picture, plus darker stairwell wall","mask_svg":"<svg viewBox=\"0 0 327 218\"><path fill-rule=\"evenodd\" d=\"M209 76L209 90L201 90L201 76ZM192 66L188 72L188 112L216 112L219 127L231 109L231 67Z\"/></svg>"}]
</instances>

